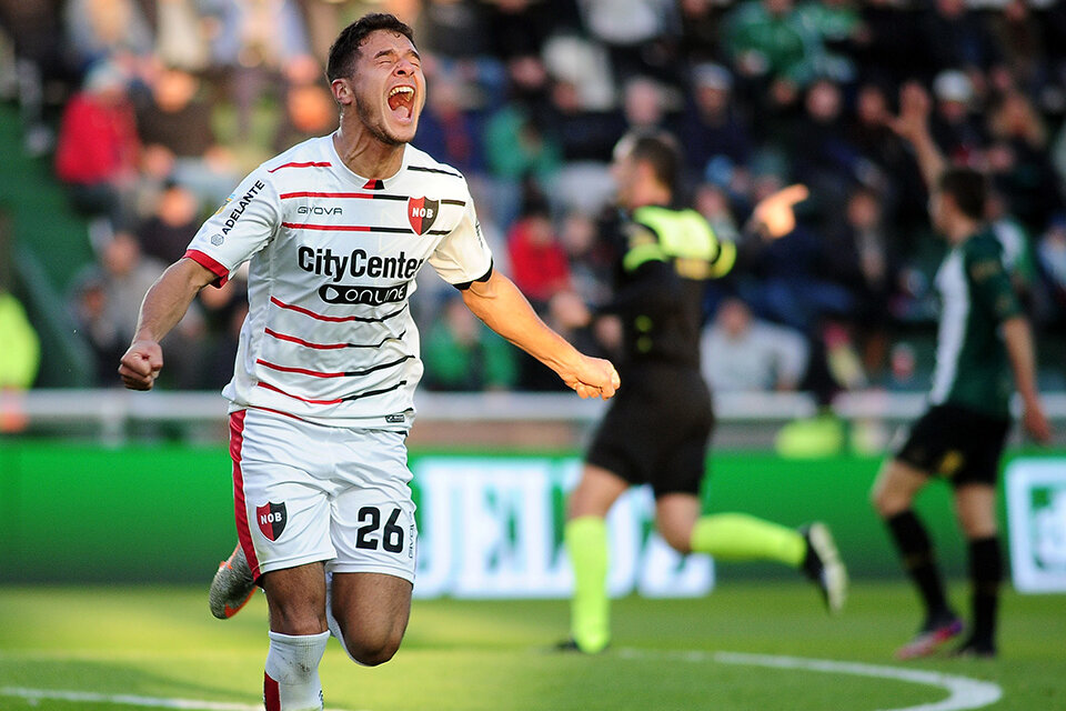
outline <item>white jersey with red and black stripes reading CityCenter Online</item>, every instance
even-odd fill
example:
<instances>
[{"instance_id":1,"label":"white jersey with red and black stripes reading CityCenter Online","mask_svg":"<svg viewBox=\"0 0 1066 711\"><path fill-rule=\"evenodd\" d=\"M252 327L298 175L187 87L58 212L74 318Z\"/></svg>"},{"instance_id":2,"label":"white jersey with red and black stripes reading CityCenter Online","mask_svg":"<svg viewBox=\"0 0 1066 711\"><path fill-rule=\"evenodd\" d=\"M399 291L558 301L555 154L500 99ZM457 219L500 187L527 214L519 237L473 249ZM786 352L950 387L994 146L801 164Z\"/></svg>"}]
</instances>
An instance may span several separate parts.
<instances>
[{"instance_id":1,"label":"white jersey with red and black stripes reading CityCenter Online","mask_svg":"<svg viewBox=\"0 0 1066 711\"><path fill-rule=\"evenodd\" d=\"M353 173L332 136L255 169L185 257L219 280L249 262L249 314L232 409L338 427L405 430L422 377L409 308L429 262L449 283L486 276L492 253L462 174L406 146L385 180Z\"/></svg>"}]
</instances>

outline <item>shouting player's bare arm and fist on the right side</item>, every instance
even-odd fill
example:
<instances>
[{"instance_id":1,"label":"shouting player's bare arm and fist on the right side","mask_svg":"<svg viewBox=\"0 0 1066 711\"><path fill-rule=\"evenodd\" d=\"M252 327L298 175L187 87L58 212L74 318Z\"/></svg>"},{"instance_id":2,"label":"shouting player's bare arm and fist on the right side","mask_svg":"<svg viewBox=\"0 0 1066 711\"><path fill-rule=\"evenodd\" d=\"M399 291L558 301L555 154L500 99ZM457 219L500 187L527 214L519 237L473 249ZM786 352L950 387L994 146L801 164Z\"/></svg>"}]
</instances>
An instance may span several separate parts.
<instances>
[{"instance_id":1,"label":"shouting player's bare arm and fist on the right side","mask_svg":"<svg viewBox=\"0 0 1066 711\"><path fill-rule=\"evenodd\" d=\"M463 302L485 326L555 371L582 398L607 398L619 373L609 361L577 351L533 311L514 283L497 271L463 290Z\"/></svg>"}]
</instances>

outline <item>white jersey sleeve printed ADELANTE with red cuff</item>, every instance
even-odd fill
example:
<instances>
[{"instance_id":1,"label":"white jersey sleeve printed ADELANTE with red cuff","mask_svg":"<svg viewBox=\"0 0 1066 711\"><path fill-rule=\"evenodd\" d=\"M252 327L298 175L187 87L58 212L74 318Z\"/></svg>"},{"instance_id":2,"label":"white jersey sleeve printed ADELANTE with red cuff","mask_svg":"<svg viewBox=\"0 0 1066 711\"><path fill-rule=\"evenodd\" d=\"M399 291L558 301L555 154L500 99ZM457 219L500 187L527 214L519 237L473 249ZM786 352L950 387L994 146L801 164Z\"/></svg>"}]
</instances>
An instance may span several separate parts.
<instances>
[{"instance_id":1,"label":"white jersey sleeve printed ADELANTE with red cuff","mask_svg":"<svg viewBox=\"0 0 1066 711\"><path fill-rule=\"evenodd\" d=\"M200 227L184 256L214 272L218 279L212 283L221 287L270 242L280 224L278 191L259 168Z\"/></svg>"}]
</instances>

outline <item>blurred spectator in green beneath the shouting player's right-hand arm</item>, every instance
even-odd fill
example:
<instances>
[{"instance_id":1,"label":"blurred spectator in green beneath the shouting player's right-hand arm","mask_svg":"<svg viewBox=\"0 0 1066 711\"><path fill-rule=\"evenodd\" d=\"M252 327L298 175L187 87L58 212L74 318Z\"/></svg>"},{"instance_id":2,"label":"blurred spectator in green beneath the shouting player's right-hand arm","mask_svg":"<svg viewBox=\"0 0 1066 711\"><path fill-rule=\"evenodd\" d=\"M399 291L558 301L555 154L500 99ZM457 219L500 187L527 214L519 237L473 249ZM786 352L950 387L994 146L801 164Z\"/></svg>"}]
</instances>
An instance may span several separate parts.
<instances>
[{"instance_id":1,"label":"blurred spectator in green beneath the shouting player's right-hand arm","mask_svg":"<svg viewBox=\"0 0 1066 711\"><path fill-rule=\"evenodd\" d=\"M517 378L514 352L450 296L430 332L422 358L429 390L480 392L512 388Z\"/></svg>"}]
</instances>

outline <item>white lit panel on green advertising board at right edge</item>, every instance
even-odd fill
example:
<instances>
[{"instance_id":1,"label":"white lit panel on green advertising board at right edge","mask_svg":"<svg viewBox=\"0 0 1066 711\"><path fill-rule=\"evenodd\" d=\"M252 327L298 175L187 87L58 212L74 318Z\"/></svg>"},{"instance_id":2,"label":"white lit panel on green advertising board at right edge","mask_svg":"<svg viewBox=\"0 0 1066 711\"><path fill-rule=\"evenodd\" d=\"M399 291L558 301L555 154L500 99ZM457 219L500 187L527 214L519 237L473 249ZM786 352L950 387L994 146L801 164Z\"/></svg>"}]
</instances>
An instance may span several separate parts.
<instances>
[{"instance_id":1,"label":"white lit panel on green advertising board at right edge","mask_svg":"<svg viewBox=\"0 0 1066 711\"><path fill-rule=\"evenodd\" d=\"M1005 475L1014 587L1066 592L1066 460L1016 459Z\"/></svg>"}]
</instances>

